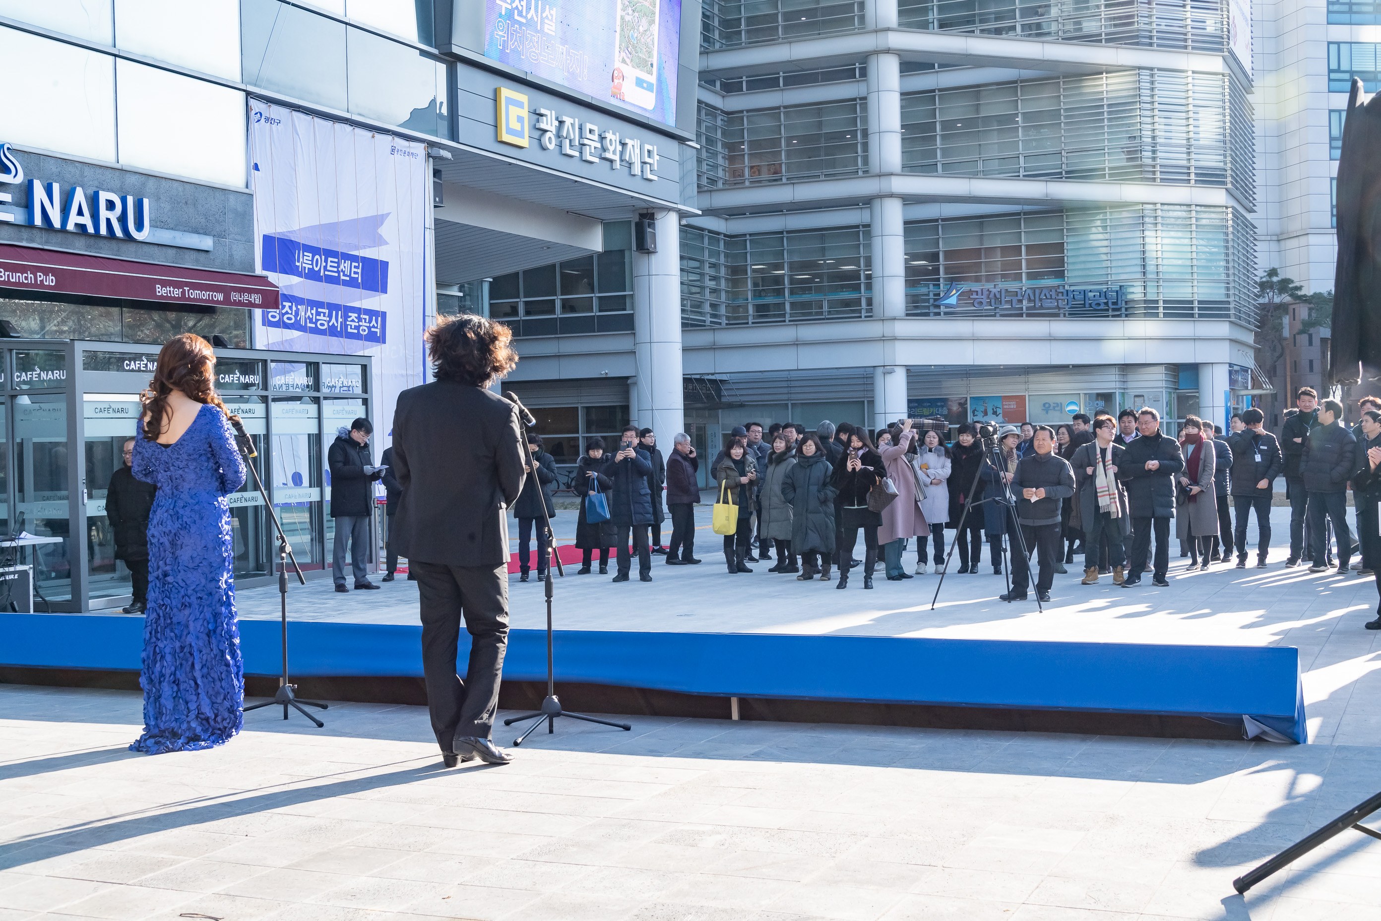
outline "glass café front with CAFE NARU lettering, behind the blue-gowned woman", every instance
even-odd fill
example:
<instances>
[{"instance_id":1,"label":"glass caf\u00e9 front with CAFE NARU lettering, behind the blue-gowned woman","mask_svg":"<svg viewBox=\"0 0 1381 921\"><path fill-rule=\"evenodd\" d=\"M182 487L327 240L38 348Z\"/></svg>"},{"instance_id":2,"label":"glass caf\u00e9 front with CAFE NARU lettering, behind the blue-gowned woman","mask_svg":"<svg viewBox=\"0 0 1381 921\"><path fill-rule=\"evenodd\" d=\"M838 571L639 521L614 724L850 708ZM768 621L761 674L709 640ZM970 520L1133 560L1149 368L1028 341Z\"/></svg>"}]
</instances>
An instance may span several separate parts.
<instances>
[{"instance_id":1,"label":"glass caf\u00e9 front with CAFE NARU lettering, behind the blue-gowned woman","mask_svg":"<svg viewBox=\"0 0 1381 921\"><path fill-rule=\"evenodd\" d=\"M0 533L57 539L6 551L33 566L36 610L128 603L130 572L115 558L106 487L135 435L139 392L157 367L159 348L79 338L0 344ZM373 417L370 359L215 352L217 389L254 442L254 463L297 562L323 569L333 537L323 445L351 420ZM254 478L228 503L236 584L269 581L275 540Z\"/></svg>"}]
</instances>

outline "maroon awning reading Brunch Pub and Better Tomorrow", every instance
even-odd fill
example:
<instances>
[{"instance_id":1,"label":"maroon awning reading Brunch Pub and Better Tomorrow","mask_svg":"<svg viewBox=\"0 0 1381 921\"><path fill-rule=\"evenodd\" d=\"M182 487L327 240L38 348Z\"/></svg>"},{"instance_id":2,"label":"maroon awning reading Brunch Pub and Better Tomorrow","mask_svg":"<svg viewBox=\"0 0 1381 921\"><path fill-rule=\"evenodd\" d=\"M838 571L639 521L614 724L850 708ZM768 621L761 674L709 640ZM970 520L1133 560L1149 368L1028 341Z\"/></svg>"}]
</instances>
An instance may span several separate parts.
<instances>
[{"instance_id":1,"label":"maroon awning reading Brunch Pub and Better Tomorrow","mask_svg":"<svg viewBox=\"0 0 1381 921\"><path fill-rule=\"evenodd\" d=\"M32 246L0 244L0 287L156 304L278 309L278 286L262 275L156 265Z\"/></svg>"}]
</instances>

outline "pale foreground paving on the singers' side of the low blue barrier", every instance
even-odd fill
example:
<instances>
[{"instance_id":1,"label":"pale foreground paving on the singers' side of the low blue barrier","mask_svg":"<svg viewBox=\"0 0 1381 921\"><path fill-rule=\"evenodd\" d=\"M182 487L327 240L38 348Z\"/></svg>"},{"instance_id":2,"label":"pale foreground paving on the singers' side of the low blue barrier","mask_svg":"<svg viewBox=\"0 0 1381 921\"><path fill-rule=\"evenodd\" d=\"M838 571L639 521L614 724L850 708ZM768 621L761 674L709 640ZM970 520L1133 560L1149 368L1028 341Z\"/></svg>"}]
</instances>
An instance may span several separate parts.
<instances>
[{"instance_id":1,"label":"pale foreground paving on the singers' side of the low blue barrier","mask_svg":"<svg viewBox=\"0 0 1381 921\"><path fill-rule=\"evenodd\" d=\"M139 704L0 685L0 921L1381 917L1358 833L1232 889L1381 788L1375 746L638 717L446 770L418 707L151 757Z\"/></svg>"}]
</instances>

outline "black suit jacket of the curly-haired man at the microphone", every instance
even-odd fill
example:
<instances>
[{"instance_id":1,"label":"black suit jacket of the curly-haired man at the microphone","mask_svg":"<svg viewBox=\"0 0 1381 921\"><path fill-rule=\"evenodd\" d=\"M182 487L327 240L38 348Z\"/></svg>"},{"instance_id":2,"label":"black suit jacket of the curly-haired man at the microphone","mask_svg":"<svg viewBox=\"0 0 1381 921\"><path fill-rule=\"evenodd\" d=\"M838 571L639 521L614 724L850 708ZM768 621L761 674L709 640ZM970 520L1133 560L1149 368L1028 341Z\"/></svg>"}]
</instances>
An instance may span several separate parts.
<instances>
[{"instance_id":1,"label":"black suit jacket of the curly-haired man at the microphone","mask_svg":"<svg viewBox=\"0 0 1381 921\"><path fill-rule=\"evenodd\" d=\"M504 398L457 381L398 395L394 550L447 566L508 562L508 507L523 483L522 429Z\"/></svg>"}]
</instances>

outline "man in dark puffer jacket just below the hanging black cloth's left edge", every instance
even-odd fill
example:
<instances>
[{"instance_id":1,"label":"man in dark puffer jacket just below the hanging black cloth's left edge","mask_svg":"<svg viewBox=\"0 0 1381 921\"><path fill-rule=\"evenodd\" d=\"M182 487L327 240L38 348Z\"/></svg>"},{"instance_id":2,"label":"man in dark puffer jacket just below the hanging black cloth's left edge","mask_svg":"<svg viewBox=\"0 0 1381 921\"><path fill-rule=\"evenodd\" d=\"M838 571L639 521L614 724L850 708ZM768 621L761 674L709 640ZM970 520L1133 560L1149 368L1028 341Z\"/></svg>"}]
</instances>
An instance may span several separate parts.
<instances>
[{"instance_id":1,"label":"man in dark puffer jacket just below the hanging black cloth's left edge","mask_svg":"<svg viewBox=\"0 0 1381 921\"><path fill-rule=\"evenodd\" d=\"M1300 478L1309 493L1308 519L1313 539L1313 565L1309 572L1329 568L1329 529L1333 522L1338 539L1338 574L1348 574L1352 556L1352 529L1348 527L1348 479L1355 472L1358 439L1342 424L1342 403L1326 399L1319 406L1319 424L1305 439Z\"/></svg>"}]
</instances>

